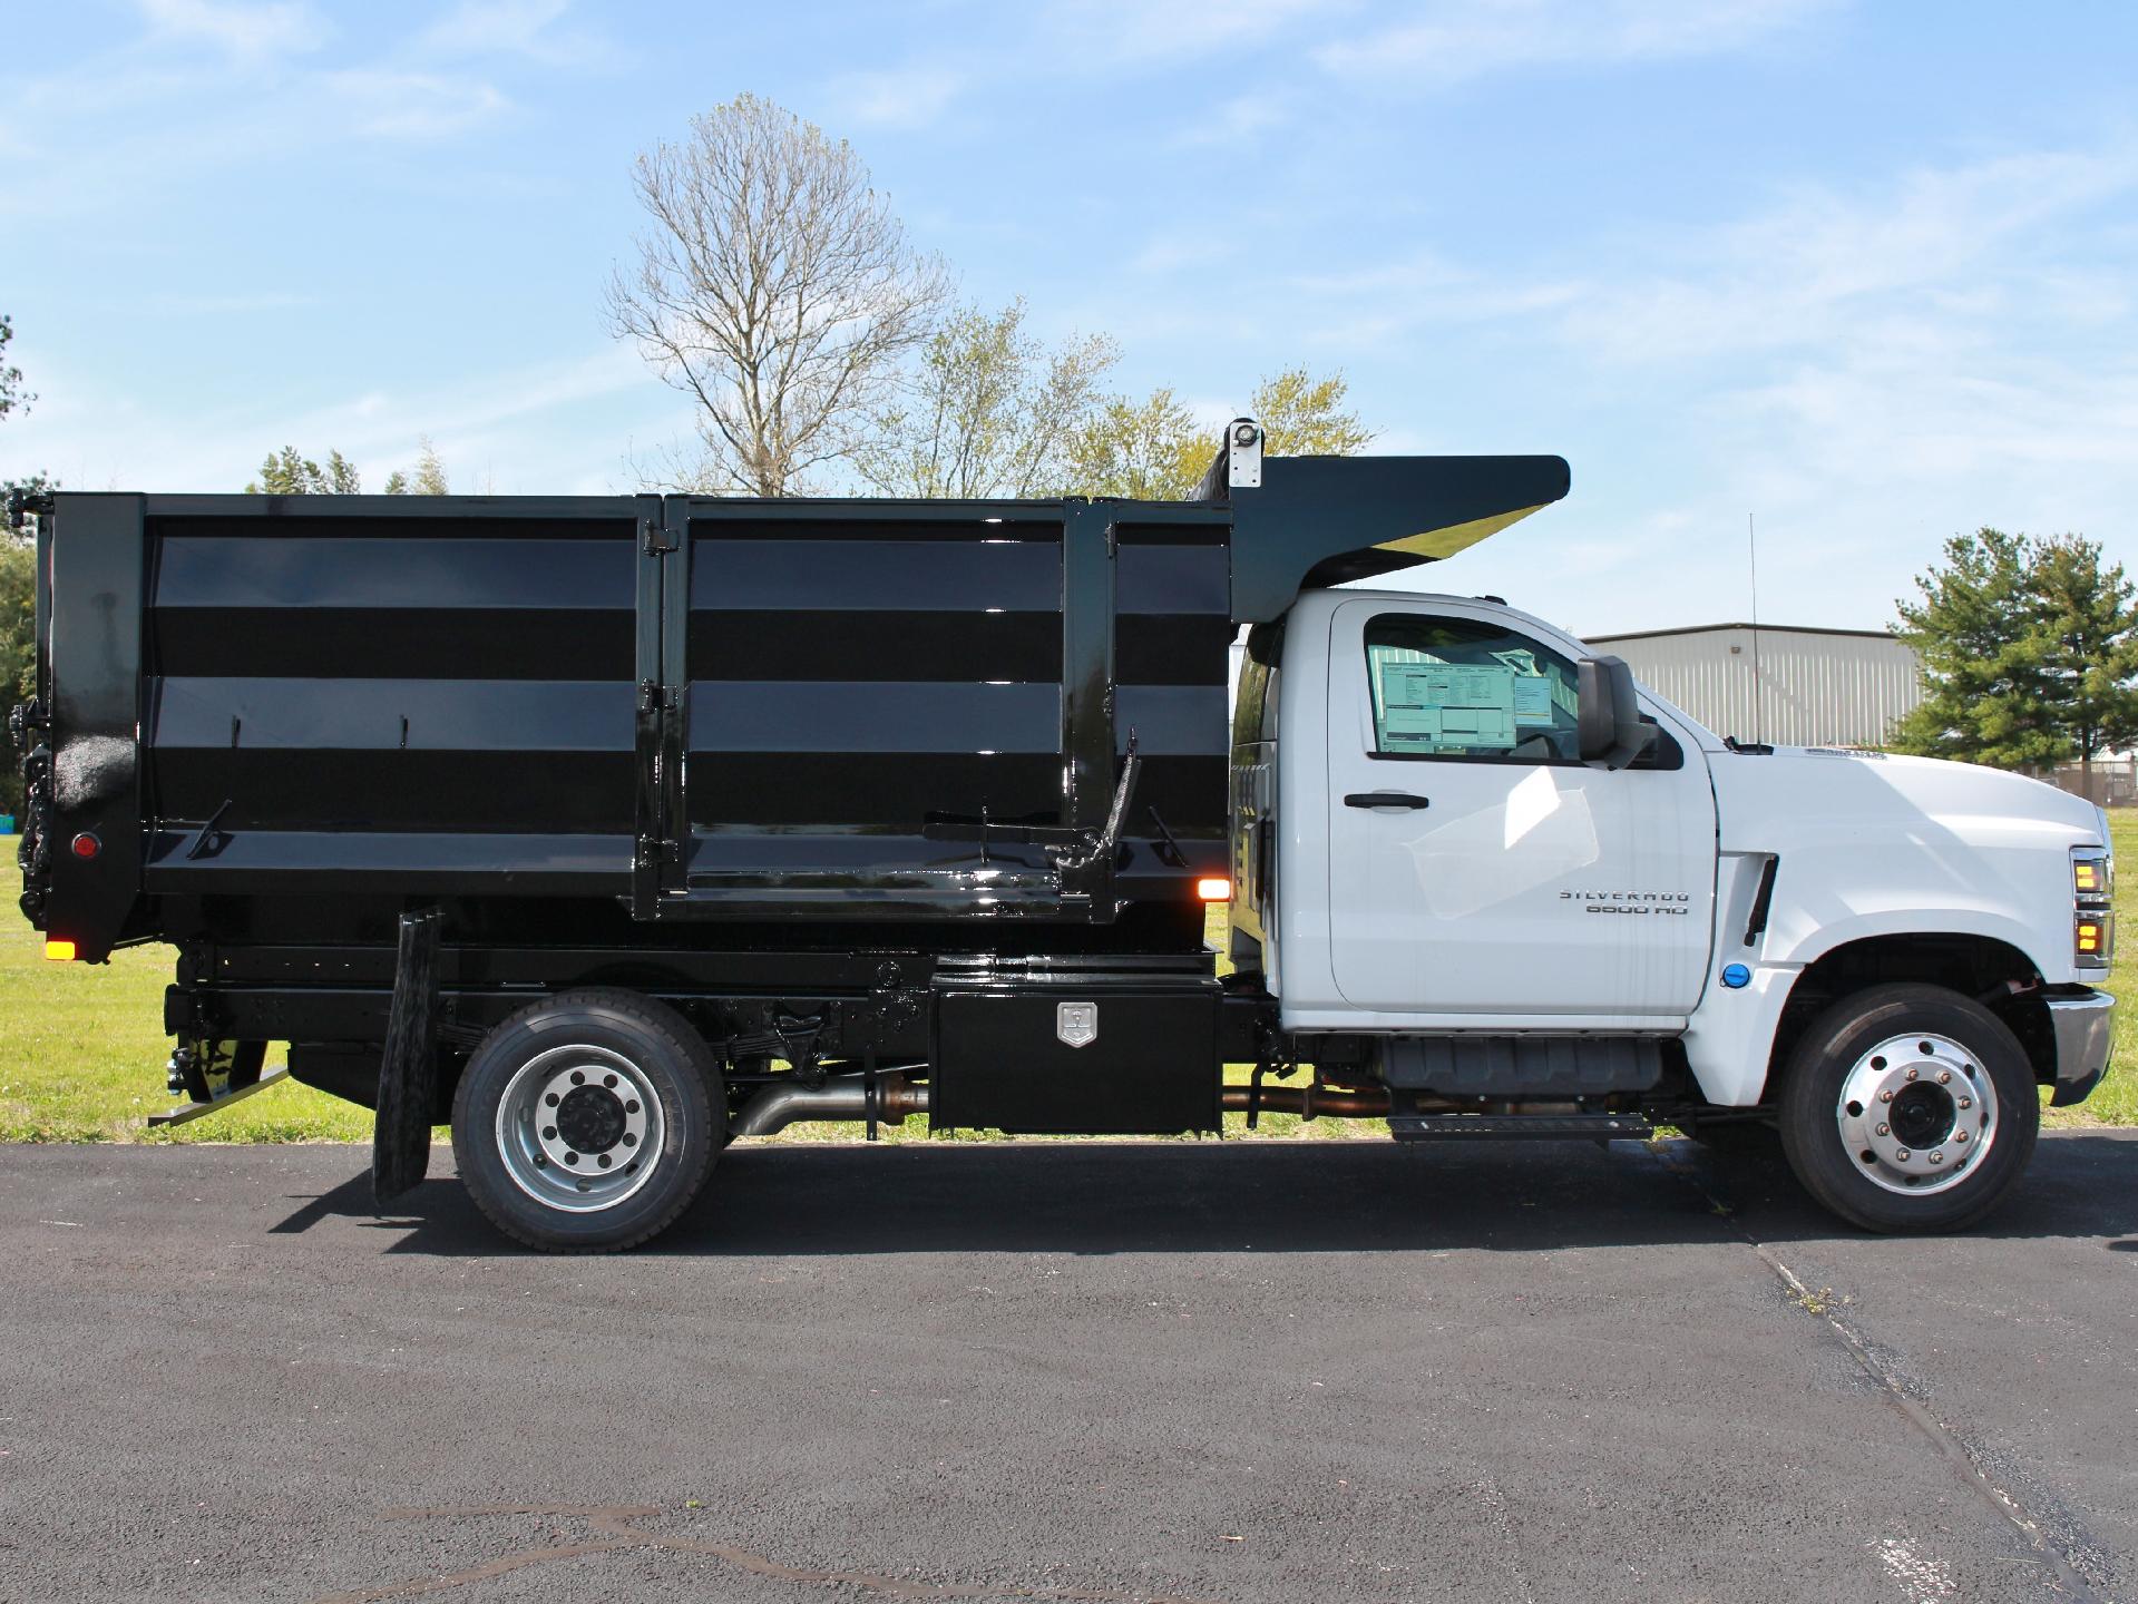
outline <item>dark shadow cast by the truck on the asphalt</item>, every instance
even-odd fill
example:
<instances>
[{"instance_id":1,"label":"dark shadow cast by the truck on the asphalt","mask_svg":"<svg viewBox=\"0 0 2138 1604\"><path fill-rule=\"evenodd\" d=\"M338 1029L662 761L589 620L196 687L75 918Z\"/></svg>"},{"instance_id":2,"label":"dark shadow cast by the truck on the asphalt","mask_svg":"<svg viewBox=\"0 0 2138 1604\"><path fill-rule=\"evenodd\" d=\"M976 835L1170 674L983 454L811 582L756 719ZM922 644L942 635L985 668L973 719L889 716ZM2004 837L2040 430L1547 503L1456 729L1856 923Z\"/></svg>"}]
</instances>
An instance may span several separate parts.
<instances>
[{"instance_id":1,"label":"dark shadow cast by the truck on the asphalt","mask_svg":"<svg viewBox=\"0 0 2138 1604\"><path fill-rule=\"evenodd\" d=\"M443 1159L443 1155L440 1155ZM393 1253L511 1251L449 1178L381 1215L370 1174L272 1225L348 1219ZM2138 1247L2138 1133L2044 1138L1971 1234ZM1227 1142L742 1146L656 1243L671 1258L815 1253L1544 1251L1847 1240L1766 1155L1691 1142Z\"/></svg>"}]
</instances>

